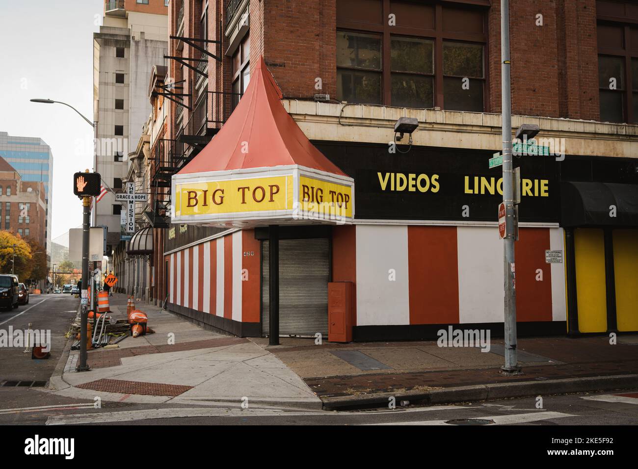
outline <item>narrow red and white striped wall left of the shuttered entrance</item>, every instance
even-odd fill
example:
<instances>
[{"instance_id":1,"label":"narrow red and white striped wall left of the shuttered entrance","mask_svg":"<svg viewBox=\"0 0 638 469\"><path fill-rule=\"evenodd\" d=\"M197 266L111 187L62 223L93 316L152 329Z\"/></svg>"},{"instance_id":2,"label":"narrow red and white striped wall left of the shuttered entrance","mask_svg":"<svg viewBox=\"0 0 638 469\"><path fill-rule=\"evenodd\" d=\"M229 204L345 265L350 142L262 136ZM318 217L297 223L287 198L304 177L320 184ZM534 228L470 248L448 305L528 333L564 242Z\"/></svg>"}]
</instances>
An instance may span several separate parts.
<instances>
[{"instance_id":1,"label":"narrow red and white striped wall left of the shuttered entrance","mask_svg":"<svg viewBox=\"0 0 638 469\"><path fill-rule=\"evenodd\" d=\"M260 244L239 230L169 253L168 302L235 322L260 321Z\"/></svg>"}]
</instances>

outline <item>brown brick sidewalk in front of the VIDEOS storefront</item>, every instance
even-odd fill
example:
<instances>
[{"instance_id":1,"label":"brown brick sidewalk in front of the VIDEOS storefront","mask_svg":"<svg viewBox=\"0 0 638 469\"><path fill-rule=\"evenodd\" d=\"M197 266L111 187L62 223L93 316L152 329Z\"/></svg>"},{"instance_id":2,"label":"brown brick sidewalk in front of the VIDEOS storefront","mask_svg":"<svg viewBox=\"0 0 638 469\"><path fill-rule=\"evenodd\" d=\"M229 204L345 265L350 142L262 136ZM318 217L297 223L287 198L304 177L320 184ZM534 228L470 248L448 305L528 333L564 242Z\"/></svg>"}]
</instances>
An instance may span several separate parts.
<instances>
[{"instance_id":1,"label":"brown brick sidewalk in front of the VIDEOS storefront","mask_svg":"<svg viewBox=\"0 0 638 469\"><path fill-rule=\"evenodd\" d=\"M491 350L440 347L436 341L326 343L282 338L267 346L297 373L326 408L412 403L454 403L638 387L638 335L523 338L523 374L500 374L503 341Z\"/></svg>"}]
</instances>

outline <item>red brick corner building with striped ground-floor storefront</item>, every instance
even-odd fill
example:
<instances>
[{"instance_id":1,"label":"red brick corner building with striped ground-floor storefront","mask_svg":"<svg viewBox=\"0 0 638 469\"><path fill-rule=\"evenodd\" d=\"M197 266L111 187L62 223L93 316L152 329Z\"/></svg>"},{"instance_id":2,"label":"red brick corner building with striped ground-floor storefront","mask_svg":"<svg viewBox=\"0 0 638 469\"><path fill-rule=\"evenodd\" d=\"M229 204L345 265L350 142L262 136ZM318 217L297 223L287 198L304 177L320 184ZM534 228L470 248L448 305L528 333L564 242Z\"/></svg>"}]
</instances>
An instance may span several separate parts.
<instances>
[{"instance_id":1,"label":"red brick corner building with striped ground-floor storefront","mask_svg":"<svg viewBox=\"0 0 638 469\"><path fill-rule=\"evenodd\" d=\"M530 178L524 192L531 196L521 205L517 244L521 330L635 331L638 311L629 306L628 292L637 280L626 275L628 267L620 260L638 256L634 218L567 221L565 212L573 210L561 201L567 200L563 187L579 190L579 184L619 184L635 197L638 126L627 122L638 120L638 76L632 75L638 70L638 6L612 0L512 0L510 20L513 130L522 123L538 124L538 137L560 142L563 149L562 160L525 156L520 162ZM167 81L175 83L167 96L177 103L158 165L167 168L164 180L186 167L232 118L263 57L286 112L355 180L359 205L353 225L288 233L290 240L328 240L326 278L355 284L355 339L417 338L431 333L432 325L502 323L501 251L491 228L498 193L492 188L491 198L468 196L479 195L479 181L484 184L480 195L486 187L489 191L490 175L496 173L487 169L486 160L501 149L500 2L175 0L168 21L174 36L168 56L179 58L167 61ZM607 78L618 87L607 89ZM620 117L601 122L601 115ZM393 132L399 117L419 121L409 146L406 140L397 142ZM389 154L393 142L399 152ZM382 198L383 174L435 171L450 181L440 198L407 193ZM472 187L471 181L476 181ZM547 200L533 189L542 181L549 181ZM609 187L610 194L616 190ZM155 193L167 204L175 201L166 186L157 186ZM579 200L588 212L591 207ZM463 207L470 215L462 214ZM258 249L256 274L266 278L264 242L260 228L229 232L193 223L157 229L154 297L168 298L169 308L200 322L262 334L263 288L249 294L260 295L260 311L246 311L252 302L242 306L251 318L246 325L240 313L228 313L229 295L235 302L241 296L228 284L237 281L235 265L242 265L235 259L241 255L237 243ZM301 241L291 249L306 252ZM547 264L547 250L560 250L564 260ZM496 256L487 258L486 252ZM370 253L384 254L375 260ZM599 271L588 276L582 266L592 262ZM397 265L404 269L403 281L386 283L387 272ZM203 300L209 304L211 299L210 307L202 309L197 296L184 299L185 291L192 294L188 286L202 280L196 269L215 271L218 282L225 278L215 290L221 314L212 308L213 287ZM538 269L545 271L544 283L535 279ZM211 275L204 278L210 281ZM179 293L172 291L178 285ZM542 306L531 308L538 298ZM428 302L431 307L423 306ZM221 319L210 320L215 315Z\"/></svg>"}]
</instances>

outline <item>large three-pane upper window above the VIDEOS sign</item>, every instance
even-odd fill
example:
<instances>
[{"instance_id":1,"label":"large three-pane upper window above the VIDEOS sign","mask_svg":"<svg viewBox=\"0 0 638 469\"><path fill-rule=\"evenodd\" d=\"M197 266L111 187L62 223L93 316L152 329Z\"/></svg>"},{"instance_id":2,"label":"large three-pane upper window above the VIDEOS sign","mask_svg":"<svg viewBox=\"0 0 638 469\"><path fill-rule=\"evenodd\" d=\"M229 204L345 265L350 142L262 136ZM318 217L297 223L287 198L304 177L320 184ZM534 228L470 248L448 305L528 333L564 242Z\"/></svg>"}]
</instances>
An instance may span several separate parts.
<instances>
[{"instance_id":1,"label":"large three-pane upper window above the VIDEOS sign","mask_svg":"<svg viewBox=\"0 0 638 469\"><path fill-rule=\"evenodd\" d=\"M338 0L337 98L486 110L484 11L449 2Z\"/></svg>"}]
</instances>

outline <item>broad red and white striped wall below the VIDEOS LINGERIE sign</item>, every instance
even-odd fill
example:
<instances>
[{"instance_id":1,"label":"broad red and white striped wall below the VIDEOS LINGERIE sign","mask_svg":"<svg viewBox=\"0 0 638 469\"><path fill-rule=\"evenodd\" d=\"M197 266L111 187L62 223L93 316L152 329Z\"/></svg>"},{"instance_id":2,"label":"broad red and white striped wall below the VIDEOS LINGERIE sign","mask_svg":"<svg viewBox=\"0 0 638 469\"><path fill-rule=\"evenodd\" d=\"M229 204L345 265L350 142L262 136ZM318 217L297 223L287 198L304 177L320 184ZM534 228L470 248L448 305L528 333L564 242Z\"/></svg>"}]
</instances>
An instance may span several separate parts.
<instances>
[{"instance_id":1,"label":"broad red and white striped wall below the VIDEOS LINGERIE sign","mask_svg":"<svg viewBox=\"0 0 638 469\"><path fill-rule=\"evenodd\" d=\"M335 255L348 255L344 237L335 238ZM335 279L356 283L356 325L503 322L495 227L357 225L350 238L356 258L333 260ZM546 249L564 252L562 228L521 228L519 238L517 321L565 321L564 264L545 263ZM356 270L344 274L348 262Z\"/></svg>"}]
</instances>

